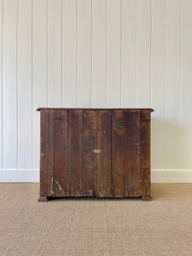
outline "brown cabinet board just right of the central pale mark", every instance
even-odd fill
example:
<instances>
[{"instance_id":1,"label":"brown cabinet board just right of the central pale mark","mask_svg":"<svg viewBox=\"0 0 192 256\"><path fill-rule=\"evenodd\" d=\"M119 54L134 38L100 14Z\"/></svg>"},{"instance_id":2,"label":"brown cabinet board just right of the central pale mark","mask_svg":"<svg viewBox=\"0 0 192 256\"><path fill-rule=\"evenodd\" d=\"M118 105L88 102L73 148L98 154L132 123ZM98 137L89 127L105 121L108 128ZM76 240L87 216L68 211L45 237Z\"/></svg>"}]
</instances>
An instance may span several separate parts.
<instances>
[{"instance_id":1,"label":"brown cabinet board just right of the central pale mark","mask_svg":"<svg viewBox=\"0 0 192 256\"><path fill-rule=\"evenodd\" d=\"M97 111L96 127L97 127L97 146L99 150L96 154L96 172L97 186L96 195L98 197L111 196L111 153L112 153L112 113L109 110Z\"/></svg>"}]
</instances>

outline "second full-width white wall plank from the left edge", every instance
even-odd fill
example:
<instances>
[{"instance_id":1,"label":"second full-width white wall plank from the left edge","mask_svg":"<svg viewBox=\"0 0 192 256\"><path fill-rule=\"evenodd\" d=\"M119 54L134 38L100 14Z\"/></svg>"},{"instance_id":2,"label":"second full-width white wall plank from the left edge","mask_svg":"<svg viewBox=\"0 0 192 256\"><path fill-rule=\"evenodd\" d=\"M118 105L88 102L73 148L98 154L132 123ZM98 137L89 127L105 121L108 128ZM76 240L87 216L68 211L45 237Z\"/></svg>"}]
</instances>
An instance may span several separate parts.
<instances>
[{"instance_id":1,"label":"second full-width white wall plank from the left edge","mask_svg":"<svg viewBox=\"0 0 192 256\"><path fill-rule=\"evenodd\" d=\"M32 1L18 1L18 168L32 168Z\"/></svg>"}]
</instances>

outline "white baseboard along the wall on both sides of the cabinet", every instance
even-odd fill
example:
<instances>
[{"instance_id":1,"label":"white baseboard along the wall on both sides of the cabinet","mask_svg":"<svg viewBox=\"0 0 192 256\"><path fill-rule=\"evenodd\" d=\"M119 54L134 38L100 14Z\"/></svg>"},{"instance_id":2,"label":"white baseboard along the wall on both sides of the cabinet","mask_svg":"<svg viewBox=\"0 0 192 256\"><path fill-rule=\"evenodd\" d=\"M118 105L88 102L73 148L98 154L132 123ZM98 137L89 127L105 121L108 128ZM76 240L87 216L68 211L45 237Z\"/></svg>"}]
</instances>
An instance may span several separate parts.
<instances>
[{"instance_id":1,"label":"white baseboard along the wall on both sides of the cabinet","mask_svg":"<svg viewBox=\"0 0 192 256\"><path fill-rule=\"evenodd\" d=\"M38 183L38 169L4 169L0 171L0 183ZM155 170L151 172L152 183L192 183L192 170Z\"/></svg>"}]
</instances>

